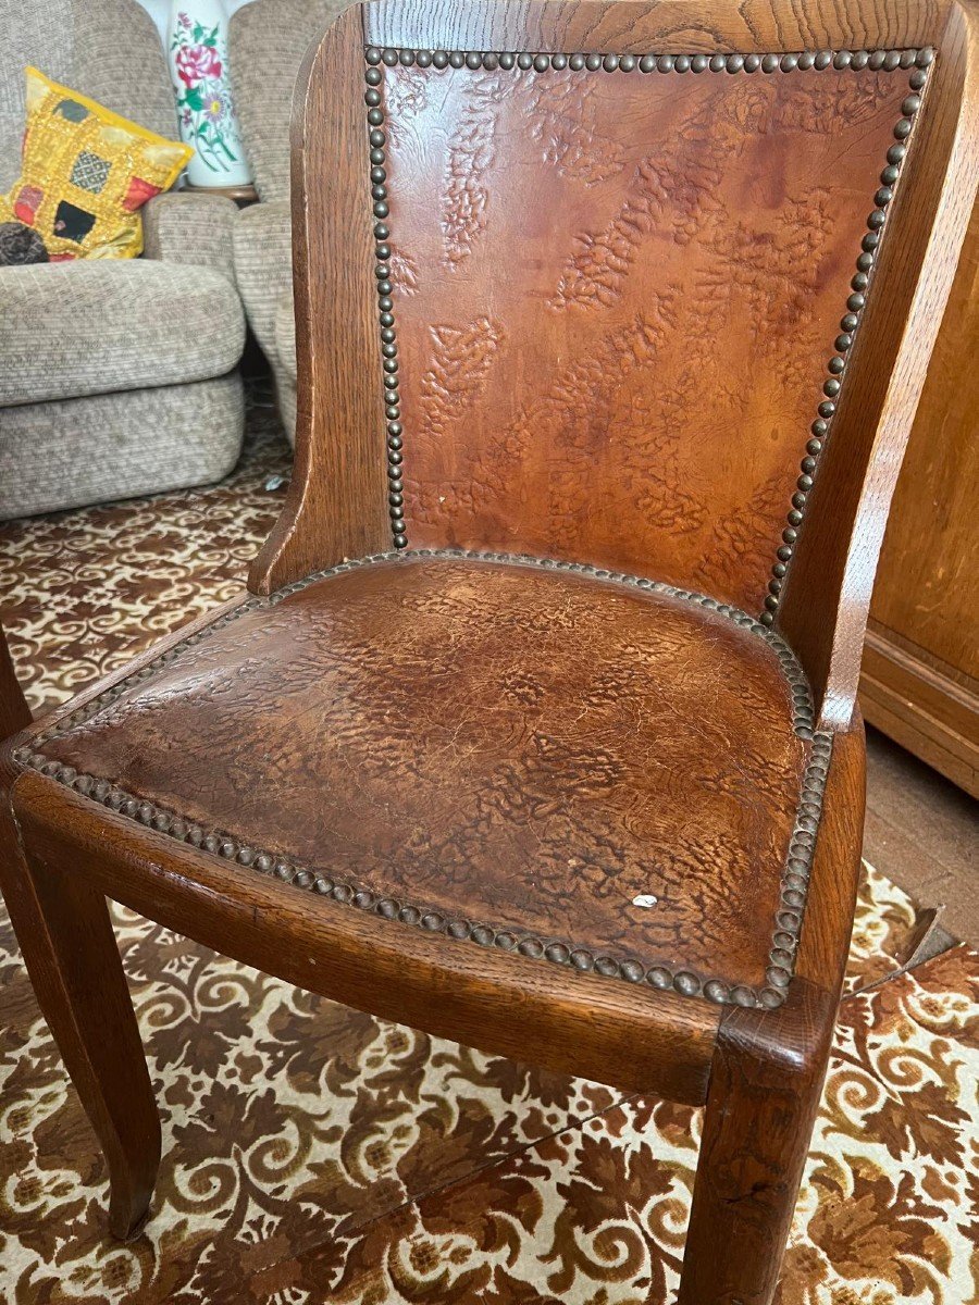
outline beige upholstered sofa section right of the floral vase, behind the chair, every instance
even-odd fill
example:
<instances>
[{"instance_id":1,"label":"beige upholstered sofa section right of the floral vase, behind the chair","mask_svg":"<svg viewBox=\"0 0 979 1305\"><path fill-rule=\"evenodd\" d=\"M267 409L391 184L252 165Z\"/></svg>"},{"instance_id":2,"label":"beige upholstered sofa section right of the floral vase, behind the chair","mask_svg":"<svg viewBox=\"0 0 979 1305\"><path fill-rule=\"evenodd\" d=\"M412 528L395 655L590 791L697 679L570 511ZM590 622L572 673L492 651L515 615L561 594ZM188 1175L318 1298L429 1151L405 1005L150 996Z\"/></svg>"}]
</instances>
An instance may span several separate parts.
<instances>
[{"instance_id":1,"label":"beige upholstered sofa section right of the floral vase, behind the chair","mask_svg":"<svg viewBox=\"0 0 979 1305\"><path fill-rule=\"evenodd\" d=\"M349 0L252 0L231 18L231 77L260 204L235 224L235 274L248 321L272 363L290 438L296 419L288 125L312 42ZM343 239L342 232L337 239Z\"/></svg>"}]
</instances>

